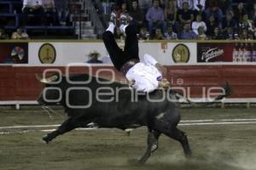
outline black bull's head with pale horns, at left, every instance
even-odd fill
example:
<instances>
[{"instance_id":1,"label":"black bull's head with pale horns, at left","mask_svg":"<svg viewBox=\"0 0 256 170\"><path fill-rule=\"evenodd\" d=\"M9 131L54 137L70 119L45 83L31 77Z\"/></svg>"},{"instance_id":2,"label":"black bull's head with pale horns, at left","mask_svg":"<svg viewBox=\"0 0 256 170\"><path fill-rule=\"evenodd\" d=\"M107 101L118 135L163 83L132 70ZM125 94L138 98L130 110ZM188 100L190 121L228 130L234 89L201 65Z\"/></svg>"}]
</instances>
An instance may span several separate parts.
<instances>
[{"instance_id":1,"label":"black bull's head with pale horns, at left","mask_svg":"<svg viewBox=\"0 0 256 170\"><path fill-rule=\"evenodd\" d=\"M62 94L60 87L60 75L49 78L36 76L39 82L43 82L45 87L38 98L39 105L57 105L61 102Z\"/></svg>"}]
</instances>

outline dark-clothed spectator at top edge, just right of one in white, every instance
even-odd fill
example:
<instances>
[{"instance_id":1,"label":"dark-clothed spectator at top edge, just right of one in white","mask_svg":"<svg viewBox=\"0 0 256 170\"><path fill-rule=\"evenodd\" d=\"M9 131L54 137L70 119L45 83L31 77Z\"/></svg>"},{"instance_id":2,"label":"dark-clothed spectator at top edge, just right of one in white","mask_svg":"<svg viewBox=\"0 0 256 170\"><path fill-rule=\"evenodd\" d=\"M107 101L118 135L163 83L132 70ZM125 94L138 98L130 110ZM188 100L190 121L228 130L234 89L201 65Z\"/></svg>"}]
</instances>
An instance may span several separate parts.
<instances>
[{"instance_id":1,"label":"dark-clothed spectator at top edge, just right of one in white","mask_svg":"<svg viewBox=\"0 0 256 170\"><path fill-rule=\"evenodd\" d=\"M207 18L209 18L211 15L215 17L215 20L218 24L221 23L223 18L223 12L221 8L219 8L218 1L216 0L209 0L207 4L207 9L205 10Z\"/></svg>"}]
</instances>

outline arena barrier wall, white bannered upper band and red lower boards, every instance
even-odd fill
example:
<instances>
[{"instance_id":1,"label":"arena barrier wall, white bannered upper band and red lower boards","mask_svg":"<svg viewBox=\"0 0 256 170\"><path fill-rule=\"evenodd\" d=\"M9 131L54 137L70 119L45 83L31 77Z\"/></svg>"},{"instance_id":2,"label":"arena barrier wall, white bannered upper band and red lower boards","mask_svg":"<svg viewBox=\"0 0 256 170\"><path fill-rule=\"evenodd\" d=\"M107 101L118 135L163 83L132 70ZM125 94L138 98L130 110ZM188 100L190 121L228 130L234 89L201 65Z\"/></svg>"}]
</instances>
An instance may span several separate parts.
<instances>
[{"instance_id":1,"label":"arena barrier wall, white bannered upper band and red lower boards","mask_svg":"<svg viewBox=\"0 0 256 170\"><path fill-rule=\"evenodd\" d=\"M172 87L184 88L187 97L205 101L209 88L229 82L232 95L224 102L256 102L254 42L140 42L139 45L140 55L152 54L166 65L166 77ZM123 42L119 42L119 46L123 47ZM83 65L89 59L88 54L95 50L101 56L108 54L102 42L0 42L0 105L36 104L44 87L36 80L36 74L46 69L65 74L68 63ZM92 65L91 68L92 75L102 68L113 70L111 65ZM73 67L70 71L87 72L86 66ZM125 82L125 77L115 73L116 80ZM110 75L108 71L100 74L107 78Z\"/></svg>"}]
</instances>

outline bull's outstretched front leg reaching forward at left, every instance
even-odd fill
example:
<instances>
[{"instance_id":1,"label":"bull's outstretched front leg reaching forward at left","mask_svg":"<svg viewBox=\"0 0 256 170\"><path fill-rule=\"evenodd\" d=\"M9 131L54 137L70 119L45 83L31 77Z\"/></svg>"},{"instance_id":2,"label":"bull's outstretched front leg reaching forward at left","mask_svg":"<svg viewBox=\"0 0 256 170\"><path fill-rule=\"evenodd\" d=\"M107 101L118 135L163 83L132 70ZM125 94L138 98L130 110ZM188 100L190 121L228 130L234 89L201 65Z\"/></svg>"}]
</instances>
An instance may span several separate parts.
<instances>
[{"instance_id":1,"label":"bull's outstretched front leg reaching forward at left","mask_svg":"<svg viewBox=\"0 0 256 170\"><path fill-rule=\"evenodd\" d=\"M76 127L77 127L76 124L73 123L73 119L72 118L68 118L54 132L48 133L43 138L43 140L44 140L44 142L46 142L48 144L52 139L55 139L57 136L59 136L61 134L64 134L64 133L67 133L67 132L73 130L74 128L76 128Z\"/></svg>"}]
</instances>

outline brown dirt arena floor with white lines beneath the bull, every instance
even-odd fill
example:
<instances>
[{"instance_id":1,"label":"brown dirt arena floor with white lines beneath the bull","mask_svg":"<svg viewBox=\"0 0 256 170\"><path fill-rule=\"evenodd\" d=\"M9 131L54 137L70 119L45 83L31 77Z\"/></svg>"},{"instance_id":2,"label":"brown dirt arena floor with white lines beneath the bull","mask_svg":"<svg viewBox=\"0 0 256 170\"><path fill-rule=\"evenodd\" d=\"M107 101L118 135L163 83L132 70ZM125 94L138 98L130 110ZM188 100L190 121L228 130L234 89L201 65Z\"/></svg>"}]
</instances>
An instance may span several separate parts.
<instances>
[{"instance_id":1,"label":"brown dirt arena floor with white lines beneath the bull","mask_svg":"<svg viewBox=\"0 0 256 170\"><path fill-rule=\"evenodd\" d=\"M188 134L193 158L176 141L160 137L159 150L144 166L147 129L127 136L118 129L74 130L43 144L64 119L37 106L0 107L1 170L255 170L256 109L182 109L179 128ZM53 126L49 126L53 125Z\"/></svg>"}]
</instances>

